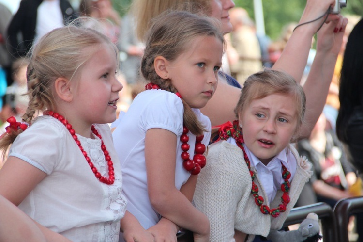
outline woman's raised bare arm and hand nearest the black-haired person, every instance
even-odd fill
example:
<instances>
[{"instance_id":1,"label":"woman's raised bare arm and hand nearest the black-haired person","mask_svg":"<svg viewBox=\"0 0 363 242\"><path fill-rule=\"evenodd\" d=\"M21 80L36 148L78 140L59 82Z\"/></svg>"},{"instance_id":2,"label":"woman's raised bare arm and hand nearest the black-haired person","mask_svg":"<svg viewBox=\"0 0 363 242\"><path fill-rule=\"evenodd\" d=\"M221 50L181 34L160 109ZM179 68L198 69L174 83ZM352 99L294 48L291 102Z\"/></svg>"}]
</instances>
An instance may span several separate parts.
<instances>
[{"instance_id":1,"label":"woman's raised bare arm and hand nearest the black-haired person","mask_svg":"<svg viewBox=\"0 0 363 242\"><path fill-rule=\"evenodd\" d=\"M317 54L303 89L306 95L305 125L301 137L308 137L325 105L348 20L336 16L318 32ZM334 29L338 29L335 33Z\"/></svg>"}]
</instances>

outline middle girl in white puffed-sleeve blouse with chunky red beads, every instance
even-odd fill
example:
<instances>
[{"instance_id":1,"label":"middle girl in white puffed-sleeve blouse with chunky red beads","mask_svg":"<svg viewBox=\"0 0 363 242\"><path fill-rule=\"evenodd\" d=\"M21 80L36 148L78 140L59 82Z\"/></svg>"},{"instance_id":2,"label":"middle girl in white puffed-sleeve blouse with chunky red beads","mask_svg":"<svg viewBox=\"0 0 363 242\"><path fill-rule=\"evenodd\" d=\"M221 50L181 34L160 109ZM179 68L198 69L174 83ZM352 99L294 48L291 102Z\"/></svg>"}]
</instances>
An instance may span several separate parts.
<instances>
[{"instance_id":1,"label":"middle girl in white puffed-sleeve blouse with chunky red beads","mask_svg":"<svg viewBox=\"0 0 363 242\"><path fill-rule=\"evenodd\" d=\"M113 132L127 209L156 237L169 233L176 240L178 225L193 231L195 241L209 240L209 221L191 200L211 129L199 108L217 87L223 47L210 18L187 12L157 17L141 62L148 90ZM173 229L165 228L169 221Z\"/></svg>"}]
</instances>

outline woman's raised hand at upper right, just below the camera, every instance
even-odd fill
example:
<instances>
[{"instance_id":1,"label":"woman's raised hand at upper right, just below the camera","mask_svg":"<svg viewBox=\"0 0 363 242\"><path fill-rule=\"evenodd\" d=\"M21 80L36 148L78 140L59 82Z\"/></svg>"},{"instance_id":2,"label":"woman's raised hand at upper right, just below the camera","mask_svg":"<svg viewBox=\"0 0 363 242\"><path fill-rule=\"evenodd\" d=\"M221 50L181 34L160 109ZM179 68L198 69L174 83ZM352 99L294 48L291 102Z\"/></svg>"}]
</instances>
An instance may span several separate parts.
<instances>
[{"instance_id":1,"label":"woman's raised hand at upper right, just below the camera","mask_svg":"<svg viewBox=\"0 0 363 242\"><path fill-rule=\"evenodd\" d=\"M335 15L337 18L325 23L318 32L317 51L338 55L348 19Z\"/></svg>"}]
</instances>

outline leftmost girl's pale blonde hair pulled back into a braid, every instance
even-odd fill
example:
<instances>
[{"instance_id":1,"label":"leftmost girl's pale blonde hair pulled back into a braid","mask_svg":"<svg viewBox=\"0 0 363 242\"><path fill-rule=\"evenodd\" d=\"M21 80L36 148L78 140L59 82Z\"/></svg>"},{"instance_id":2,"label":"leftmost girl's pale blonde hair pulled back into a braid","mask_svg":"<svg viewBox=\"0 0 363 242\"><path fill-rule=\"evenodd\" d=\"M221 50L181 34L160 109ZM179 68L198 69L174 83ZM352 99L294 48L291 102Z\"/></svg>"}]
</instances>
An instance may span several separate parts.
<instances>
[{"instance_id":1,"label":"leftmost girl's pale blonde hair pulled back into a braid","mask_svg":"<svg viewBox=\"0 0 363 242\"><path fill-rule=\"evenodd\" d=\"M79 26L67 26L55 29L43 36L32 48L27 68L29 103L22 121L31 124L35 113L46 109L55 110L53 96L54 82L57 78L70 81L81 70L101 44L108 44L115 50L116 46L103 34L93 29ZM0 149L7 149L22 129L12 132L0 139Z\"/></svg>"}]
</instances>

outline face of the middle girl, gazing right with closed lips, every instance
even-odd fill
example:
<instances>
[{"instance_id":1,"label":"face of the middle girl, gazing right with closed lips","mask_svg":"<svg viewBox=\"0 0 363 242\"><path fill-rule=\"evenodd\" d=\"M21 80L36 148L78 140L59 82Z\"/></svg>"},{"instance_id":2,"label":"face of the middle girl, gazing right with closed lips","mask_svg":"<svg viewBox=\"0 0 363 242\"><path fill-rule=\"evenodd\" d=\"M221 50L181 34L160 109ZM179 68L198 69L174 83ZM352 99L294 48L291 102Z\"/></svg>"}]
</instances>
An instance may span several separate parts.
<instances>
[{"instance_id":1,"label":"face of the middle girl, gazing right with closed lips","mask_svg":"<svg viewBox=\"0 0 363 242\"><path fill-rule=\"evenodd\" d=\"M214 94L222 53L222 42L216 37L197 37L186 52L167 64L168 78L190 107L204 107Z\"/></svg>"}]
</instances>

